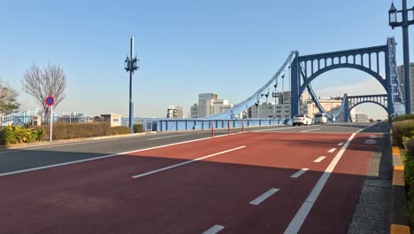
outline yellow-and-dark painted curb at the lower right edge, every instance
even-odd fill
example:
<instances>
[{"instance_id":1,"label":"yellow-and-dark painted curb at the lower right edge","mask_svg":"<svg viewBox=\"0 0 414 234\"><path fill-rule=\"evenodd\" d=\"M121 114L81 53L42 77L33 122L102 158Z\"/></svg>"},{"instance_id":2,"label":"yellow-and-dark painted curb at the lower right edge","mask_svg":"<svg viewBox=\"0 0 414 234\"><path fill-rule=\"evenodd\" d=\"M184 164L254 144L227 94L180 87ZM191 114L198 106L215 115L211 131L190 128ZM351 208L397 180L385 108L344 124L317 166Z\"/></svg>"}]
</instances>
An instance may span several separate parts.
<instances>
[{"instance_id":1,"label":"yellow-and-dark painted curb at the lower right edge","mask_svg":"<svg viewBox=\"0 0 414 234\"><path fill-rule=\"evenodd\" d=\"M405 194L404 166L398 147L392 147L393 154L393 187L391 200L391 234L410 233L409 219L406 214L407 196Z\"/></svg>"}]
</instances>

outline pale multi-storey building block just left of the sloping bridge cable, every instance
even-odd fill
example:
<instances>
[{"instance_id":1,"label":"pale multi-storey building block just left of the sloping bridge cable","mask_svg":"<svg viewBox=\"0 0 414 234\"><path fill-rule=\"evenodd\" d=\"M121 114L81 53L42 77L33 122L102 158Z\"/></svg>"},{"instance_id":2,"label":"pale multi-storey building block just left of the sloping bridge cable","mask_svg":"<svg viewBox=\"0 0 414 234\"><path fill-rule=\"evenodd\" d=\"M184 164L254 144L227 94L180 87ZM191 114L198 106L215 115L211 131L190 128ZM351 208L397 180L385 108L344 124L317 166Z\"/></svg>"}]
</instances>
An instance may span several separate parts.
<instances>
[{"instance_id":1,"label":"pale multi-storey building block just left of the sloping bridge cable","mask_svg":"<svg viewBox=\"0 0 414 234\"><path fill-rule=\"evenodd\" d=\"M214 93L201 93L198 95L198 104L190 107L191 118L203 118L217 113L224 113L232 108L228 100L219 99Z\"/></svg>"}]
</instances>

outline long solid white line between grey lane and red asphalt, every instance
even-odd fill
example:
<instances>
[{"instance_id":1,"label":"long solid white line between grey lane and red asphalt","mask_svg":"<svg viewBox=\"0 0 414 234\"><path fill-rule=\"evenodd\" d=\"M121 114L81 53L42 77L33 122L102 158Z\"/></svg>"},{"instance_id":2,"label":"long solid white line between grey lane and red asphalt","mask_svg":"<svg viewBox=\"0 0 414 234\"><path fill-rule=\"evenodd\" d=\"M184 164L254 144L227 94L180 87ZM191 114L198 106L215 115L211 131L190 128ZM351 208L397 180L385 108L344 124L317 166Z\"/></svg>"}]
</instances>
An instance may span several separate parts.
<instances>
[{"instance_id":1,"label":"long solid white line between grey lane and red asphalt","mask_svg":"<svg viewBox=\"0 0 414 234\"><path fill-rule=\"evenodd\" d=\"M235 134L230 134L230 135L235 135ZM223 136L230 136L230 135L223 135ZM220 136L216 136L216 137L220 137ZM74 160L74 161L68 161L68 162L63 162L63 163L58 163L58 164L52 164L52 165L38 167L38 168L29 168L29 169L17 170L17 171L2 173L2 174L0 174L0 176L14 175L14 174L24 173L24 172L28 172L28 171L42 170L42 169L46 169L46 168L56 168L56 167L71 165L71 164L80 163L80 162L84 162L84 161L90 161L90 160L101 160L101 159L110 158L110 157L119 156L119 155L124 155L124 154L128 154L128 153L149 151L149 150L164 148L164 147L173 146L173 145L177 145L177 144L186 144L186 143L191 143L191 142L208 140L208 139L211 139L211 138L212 137L204 137L204 138L199 138L199 139L195 139L195 140L189 140L189 141L183 141L183 142L178 142L178 143L173 143L173 144L164 144L164 145L159 145L159 146L155 146L155 147L149 147L149 148L136 150L136 151L119 152L119 153L114 153L114 154L109 154L109 155L103 155L103 156L100 156L100 157L90 158L90 159L86 159L86 160Z\"/></svg>"}]
</instances>

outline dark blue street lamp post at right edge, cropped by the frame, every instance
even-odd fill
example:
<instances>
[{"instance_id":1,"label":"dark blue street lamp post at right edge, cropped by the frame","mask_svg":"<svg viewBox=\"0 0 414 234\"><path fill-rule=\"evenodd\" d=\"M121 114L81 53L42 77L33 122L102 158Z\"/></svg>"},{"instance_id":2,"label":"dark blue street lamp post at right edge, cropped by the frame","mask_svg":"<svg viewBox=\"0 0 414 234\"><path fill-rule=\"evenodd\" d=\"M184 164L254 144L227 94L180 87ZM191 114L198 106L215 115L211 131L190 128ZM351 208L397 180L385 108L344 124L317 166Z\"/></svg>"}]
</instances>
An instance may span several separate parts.
<instances>
[{"instance_id":1,"label":"dark blue street lamp post at right edge, cropped by the frame","mask_svg":"<svg viewBox=\"0 0 414 234\"><path fill-rule=\"evenodd\" d=\"M410 94L410 47L408 27L414 24L414 6L407 9L407 0L403 1L403 10L397 11L394 3L388 11L388 23L394 27L403 27L403 56L404 56L404 86L405 86L405 113L411 113L411 94ZM409 12L413 14L413 20L409 20ZM397 13L401 13L403 18L398 21Z\"/></svg>"}]
</instances>

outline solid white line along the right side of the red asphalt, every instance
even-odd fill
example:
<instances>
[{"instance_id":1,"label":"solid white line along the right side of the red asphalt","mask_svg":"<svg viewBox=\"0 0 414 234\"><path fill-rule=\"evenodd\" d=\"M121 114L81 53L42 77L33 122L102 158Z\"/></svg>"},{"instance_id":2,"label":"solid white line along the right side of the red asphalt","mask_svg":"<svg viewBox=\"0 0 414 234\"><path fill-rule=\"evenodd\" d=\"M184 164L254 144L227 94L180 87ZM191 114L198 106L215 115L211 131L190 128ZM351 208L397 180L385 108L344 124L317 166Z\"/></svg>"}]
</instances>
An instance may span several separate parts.
<instances>
[{"instance_id":1,"label":"solid white line along the right side of the red asphalt","mask_svg":"<svg viewBox=\"0 0 414 234\"><path fill-rule=\"evenodd\" d=\"M313 207L313 204L315 204L316 199L318 199L318 196L324 188L326 181L334 171L334 168L336 167L336 164L338 164L338 161L341 160L343 152L345 152L345 150L347 149L348 145L350 144L355 135L357 135L357 133L353 133L351 136L349 136L348 141L342 146L341 150L336 154L334 160L331 161L329 166L326 168L324 174L320 176L318 183L315 185L315 187L313 187L311 194L309 194L308 198L303 202L302 207L297 211L294 219L289 223L289 226L284 233L297 233L301 229L304 220L311 211L311 208Z\"/></svg>"}]
</instances>

